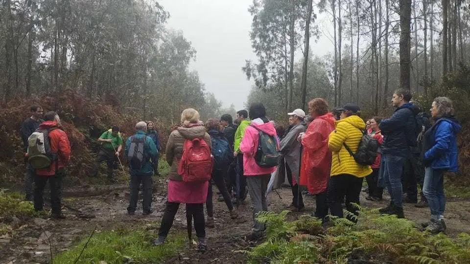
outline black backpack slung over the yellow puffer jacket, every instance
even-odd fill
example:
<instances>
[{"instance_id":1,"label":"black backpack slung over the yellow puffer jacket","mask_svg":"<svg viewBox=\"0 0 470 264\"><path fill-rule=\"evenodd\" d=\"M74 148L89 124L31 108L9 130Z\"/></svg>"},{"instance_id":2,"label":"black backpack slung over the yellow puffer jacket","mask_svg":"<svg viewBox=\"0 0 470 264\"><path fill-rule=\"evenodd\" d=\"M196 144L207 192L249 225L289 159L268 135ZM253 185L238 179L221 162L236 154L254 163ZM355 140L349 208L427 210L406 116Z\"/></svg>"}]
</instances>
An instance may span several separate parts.
<instances>
[{"instance_id":1,"label":"black backpack slung over the yellow puffer jacket","mask_svg":"<svg viewBox=\"0 0 470 264\"><path fill-rule=\"evenodd\" d=\"M355 154L352 153L352 150L346 143L343 142L343 145L357 164L363 166L372 165L376 161L377 150L379 147L378 141L366 131L360 131L362 132L362 137Z\"/></svg>"}]
</instances>

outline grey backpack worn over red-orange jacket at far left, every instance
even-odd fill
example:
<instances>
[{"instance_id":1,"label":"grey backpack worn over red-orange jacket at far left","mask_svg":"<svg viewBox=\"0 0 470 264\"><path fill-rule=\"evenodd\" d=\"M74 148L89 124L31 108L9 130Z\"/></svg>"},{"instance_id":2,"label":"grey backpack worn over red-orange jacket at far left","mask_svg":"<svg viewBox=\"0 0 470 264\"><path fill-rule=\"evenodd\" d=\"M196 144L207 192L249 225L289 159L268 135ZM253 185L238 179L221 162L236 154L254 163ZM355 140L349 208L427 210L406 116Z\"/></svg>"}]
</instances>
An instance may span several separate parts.
<instances>
[{"instance_id":1,"label":"grey backpack worn over red-orange jacket at far left","mask_svg":"<svg viewBox=\"0 0 470 264\"><path fill-rule=\"evenodd\" d=\"M48 168L54 160L57 160L57 154L50 150L49 141L49 132L55 129L37 129L28 137L28 162L34 169Z\"/></svg>"}]
</instances>

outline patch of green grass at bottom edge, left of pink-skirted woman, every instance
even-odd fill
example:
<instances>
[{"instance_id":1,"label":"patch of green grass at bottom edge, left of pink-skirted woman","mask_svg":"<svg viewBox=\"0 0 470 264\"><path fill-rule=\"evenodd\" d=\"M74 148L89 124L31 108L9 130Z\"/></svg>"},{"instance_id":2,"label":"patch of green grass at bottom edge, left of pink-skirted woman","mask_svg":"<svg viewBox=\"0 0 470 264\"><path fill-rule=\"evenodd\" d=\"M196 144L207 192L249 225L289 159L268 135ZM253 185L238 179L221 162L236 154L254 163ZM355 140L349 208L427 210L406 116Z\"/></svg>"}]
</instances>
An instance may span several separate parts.
<instances>
[{"instance_id":1,"label":"patch of green grass at bottom edge, left of pink-skirted woman","mask_svg":"<svg viewBox=\"0 0 470 264\"><path fill-rule=\"evenodd\" d=\"M96 232L96 231L95 231ZM70 250L54 258L53 263L89 264L105 261L108 264L121 263L160 263L178 254L184 247L185 236L178 233L170 236L162 246L153 246L155 230L119 230L94 233L78 262L75 262L89 237L84 238Z\"/></svg>"}]
</instances>

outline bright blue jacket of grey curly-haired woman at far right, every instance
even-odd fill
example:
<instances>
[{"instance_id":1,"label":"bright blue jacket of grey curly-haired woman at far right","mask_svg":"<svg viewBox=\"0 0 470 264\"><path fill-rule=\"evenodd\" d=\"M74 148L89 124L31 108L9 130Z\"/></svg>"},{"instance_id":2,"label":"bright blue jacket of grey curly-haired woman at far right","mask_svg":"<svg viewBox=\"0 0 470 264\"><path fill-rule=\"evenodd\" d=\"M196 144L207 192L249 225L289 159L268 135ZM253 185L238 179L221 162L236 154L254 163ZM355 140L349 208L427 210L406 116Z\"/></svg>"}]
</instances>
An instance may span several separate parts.
<instances>
[{"instance_id":1,"label":"bright blue jacket of grey curly-haired woman at far right","mask_svg":"<svg viewBox=\"0 0 470 264\"><path fill-rule=\"evenodd\" d=\"M434 170L445 169L457 172L459 169L457 133L462 127L453 118L440 118L424 135L424 163Z\"/></svg>"}]
</instances>

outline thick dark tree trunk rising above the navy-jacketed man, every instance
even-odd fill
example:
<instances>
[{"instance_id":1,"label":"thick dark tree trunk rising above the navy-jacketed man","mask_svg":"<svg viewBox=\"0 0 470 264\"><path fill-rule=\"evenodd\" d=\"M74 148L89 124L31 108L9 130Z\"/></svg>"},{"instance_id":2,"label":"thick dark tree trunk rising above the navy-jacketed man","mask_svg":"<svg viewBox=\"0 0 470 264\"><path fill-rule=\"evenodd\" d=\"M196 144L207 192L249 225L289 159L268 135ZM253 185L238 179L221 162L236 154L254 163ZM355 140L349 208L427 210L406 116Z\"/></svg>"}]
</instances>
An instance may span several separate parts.
<instances>
[{"instance_id":1,"label":"thick dark tree trunk rising above the navy-jacketed man","mask_svg":"<svg viewBox=\"0 0 470 264\"><path fill-rule=\"evenodd\" d=\"M400 87L410 89L411 0L400 0Z\"/></svg>"}]
</instances>

